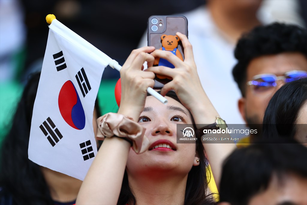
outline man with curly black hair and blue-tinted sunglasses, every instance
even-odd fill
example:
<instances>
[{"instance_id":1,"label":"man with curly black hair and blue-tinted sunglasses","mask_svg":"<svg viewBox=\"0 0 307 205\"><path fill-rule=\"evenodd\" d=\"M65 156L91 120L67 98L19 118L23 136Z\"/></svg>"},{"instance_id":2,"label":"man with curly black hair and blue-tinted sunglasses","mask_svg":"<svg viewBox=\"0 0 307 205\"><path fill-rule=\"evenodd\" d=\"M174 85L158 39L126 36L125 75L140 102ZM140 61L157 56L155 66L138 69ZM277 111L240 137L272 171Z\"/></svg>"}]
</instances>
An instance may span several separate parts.
<instances>
[{"instance_id":1,"label":"man with curly black hair and blue-tinted sunglasses","mask_svg":"<svg viewBox=\"0 0 307 205\"><path fill-rule=\"evenodd\" d=\"M238 62L232 74L242 94L239 111L247 126L261 130L266 106L276 90L306 77L306 30L282 23L255 27L239 39L235 58Z\"/></svg>"}]
</instances>

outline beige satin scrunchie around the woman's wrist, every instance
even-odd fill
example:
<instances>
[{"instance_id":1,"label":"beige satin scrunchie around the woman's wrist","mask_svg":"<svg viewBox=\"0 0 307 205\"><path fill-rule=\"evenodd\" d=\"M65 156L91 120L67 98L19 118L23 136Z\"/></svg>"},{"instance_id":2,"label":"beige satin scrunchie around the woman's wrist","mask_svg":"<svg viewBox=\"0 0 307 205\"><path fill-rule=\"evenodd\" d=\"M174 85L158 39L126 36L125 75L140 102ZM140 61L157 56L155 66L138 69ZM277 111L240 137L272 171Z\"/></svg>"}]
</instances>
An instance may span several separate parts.
<instances>
[{"instance_id":1,"label":"beige satin scrunchie around the woman's wrist","mask_svg":"<svg viewBox=\"0 0 307 205\"><path fill-rule=\"evenodd\" d=\"M136 153L143 153L149 148L149 140L144 135L145 128L131 117L109 112L97 119L97 139L104 140L105 137L127 137L132 140Z\"/></svg>"}]
</instances>

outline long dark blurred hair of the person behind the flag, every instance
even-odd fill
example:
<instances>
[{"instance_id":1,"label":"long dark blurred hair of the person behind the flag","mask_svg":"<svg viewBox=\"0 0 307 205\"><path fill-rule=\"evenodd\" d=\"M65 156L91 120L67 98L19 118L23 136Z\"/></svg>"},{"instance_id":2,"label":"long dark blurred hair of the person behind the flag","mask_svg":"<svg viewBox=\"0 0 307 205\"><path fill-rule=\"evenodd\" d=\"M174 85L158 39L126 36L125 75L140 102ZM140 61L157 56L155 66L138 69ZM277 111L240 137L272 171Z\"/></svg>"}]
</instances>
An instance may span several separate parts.
<instances>
[{"instance_id":1,"label":"long dark blurred hair of the person behind the flag","mask_svg":"<svg viewBox=\"0 0 307 205\"><path fill-rule=\"evenodd\" d=\"M31 75L0 149L0 204L54 205L40 166L28 159L33 105L41 73ZM95 105L98 105L96 102ZM100 115L99 106L95 106Z\"/></svg>"}]
</instances>

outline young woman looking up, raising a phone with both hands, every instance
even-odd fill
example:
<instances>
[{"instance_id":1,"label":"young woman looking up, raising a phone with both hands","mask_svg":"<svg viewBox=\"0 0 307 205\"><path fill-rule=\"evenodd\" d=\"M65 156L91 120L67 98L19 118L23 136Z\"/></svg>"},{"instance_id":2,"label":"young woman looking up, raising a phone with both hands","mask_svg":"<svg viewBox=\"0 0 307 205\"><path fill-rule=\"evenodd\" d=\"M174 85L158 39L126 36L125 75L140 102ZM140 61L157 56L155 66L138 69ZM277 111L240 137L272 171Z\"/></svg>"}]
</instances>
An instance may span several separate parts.
<instances>
[{"instance_id":1,"label":"young woman looking up, raising a phone with both hands","mask_svg":"<svg viewBox=\"0 0 307 205\"><path fill-rule=\"evenodd\" d=\"M118 114L111 113L97 121L103 135L127 136L128 140L115 136L104 140L81 185L76 204L214 203L207 190L204 149L218 184L222 161L235 145L176 143L177 124L194 124L194 120L194 128L199 129L200 124L213 124L219 116L200 84L192 45L185 35L177 36L185 48L184 61L170 52L143 47L132 51L122 66ZM175 69L152 67L155 57L165 58ZM145 61L149 68L144 72ZM173 78L161 89L167 105L147 97L146 89L153 87L155 74ZM170 90L176 92L177 99L176 95L167 94Z\"/></svg>"}]
</instances>

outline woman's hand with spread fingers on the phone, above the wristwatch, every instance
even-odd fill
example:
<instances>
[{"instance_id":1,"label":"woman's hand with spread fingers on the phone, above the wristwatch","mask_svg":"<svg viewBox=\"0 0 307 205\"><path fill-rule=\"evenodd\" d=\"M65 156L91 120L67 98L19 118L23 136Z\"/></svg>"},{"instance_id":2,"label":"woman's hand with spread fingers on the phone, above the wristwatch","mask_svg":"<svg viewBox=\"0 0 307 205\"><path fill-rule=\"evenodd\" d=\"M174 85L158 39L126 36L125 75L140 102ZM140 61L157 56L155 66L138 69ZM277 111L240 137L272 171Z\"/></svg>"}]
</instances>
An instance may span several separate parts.
<instances>
[{"instance_id":1,"label":"woman's hand with spread fingers on the phone, above the wristwatch","mask_svg":"<svg viewBox=\"0 0 307 205\"><path fill-rule=\"evenodd\" d=\"M185 60L181 61L171 52L155 50L151 53L153 57L164 58L172 63L175 68L171 69L165 66L156 66L149 67L146 71L172 77L173 80L165 84L161 89L161 95L165 96L169 90L175 90L182 104L190 110L194 118L197 113L200 113L200 109L205 107L206 109L210 109L209 111L207 110L206 113L212 112L208 114L213 115L213 119L210 121L210 123L213 123L215 116L217 116L217 112L200 83L194 61L192 45L185 35L179 32L177 32L176 35L180 38L184 47Z\"/></svg>"}]
</instances>

